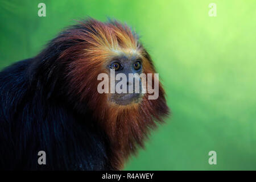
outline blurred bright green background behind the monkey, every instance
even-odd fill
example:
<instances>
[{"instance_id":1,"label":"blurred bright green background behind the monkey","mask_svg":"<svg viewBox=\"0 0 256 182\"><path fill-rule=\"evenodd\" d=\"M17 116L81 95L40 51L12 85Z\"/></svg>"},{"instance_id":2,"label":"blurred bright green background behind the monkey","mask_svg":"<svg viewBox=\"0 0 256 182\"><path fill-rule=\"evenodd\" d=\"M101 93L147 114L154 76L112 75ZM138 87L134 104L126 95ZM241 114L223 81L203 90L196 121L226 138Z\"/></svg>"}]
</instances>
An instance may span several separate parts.
<instances>
[{"instance_id":1,"label":"blurred bright green background behind the monkey","mask_svg":"<svg viewBox=\"0 0 256 182\"><path fill-rule=\"evenodd\" d=\"M119 19L141 35L172 109L125 169L255 170L255 10L255 0L1 0L0 68L35 56L73 20ZM208 163L212 150L217 165Z\"/></svg>"}]
</instances>

